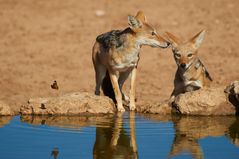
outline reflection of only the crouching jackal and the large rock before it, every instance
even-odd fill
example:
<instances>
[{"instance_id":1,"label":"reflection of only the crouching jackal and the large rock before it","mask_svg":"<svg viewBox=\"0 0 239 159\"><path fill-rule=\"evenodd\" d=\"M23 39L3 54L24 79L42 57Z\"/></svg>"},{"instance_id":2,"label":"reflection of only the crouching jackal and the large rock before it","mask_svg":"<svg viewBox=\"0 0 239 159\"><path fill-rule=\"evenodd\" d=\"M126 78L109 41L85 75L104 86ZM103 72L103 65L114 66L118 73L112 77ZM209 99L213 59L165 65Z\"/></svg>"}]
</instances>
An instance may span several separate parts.
<instances>
[{"instance_id":1,"label":"reflection of only the crouching jackal and the large rock before it","mask_svg":"<svg viewBox=\"0 0 239 159\"><path fill-rule=\"evenodd\" d=\"M235 121L235 117L174 117L175 137L169 158L188 152L195 159L203 159L199 139L225 135Z\"/></svg>"}]
</instances>

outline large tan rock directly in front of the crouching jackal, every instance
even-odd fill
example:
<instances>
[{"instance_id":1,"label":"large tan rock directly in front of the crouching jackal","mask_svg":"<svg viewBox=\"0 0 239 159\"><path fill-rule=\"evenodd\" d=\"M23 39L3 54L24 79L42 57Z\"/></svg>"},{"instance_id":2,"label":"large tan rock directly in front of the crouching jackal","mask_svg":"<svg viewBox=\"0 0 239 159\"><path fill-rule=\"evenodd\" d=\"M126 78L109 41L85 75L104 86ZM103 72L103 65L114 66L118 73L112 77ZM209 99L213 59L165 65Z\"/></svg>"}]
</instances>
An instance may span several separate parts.
<instances>
[{"instance_id":1,"label":"large tan rock directly in front of the crouching jackal","mask_svg":"<svg viewBox=\"0 0 239 159\"><path fill-rule=\"evenodd\" d=\"M176 97L173 111L186 115L235 115L224 88L203 88Z\"/></svg>"}]
</instances>

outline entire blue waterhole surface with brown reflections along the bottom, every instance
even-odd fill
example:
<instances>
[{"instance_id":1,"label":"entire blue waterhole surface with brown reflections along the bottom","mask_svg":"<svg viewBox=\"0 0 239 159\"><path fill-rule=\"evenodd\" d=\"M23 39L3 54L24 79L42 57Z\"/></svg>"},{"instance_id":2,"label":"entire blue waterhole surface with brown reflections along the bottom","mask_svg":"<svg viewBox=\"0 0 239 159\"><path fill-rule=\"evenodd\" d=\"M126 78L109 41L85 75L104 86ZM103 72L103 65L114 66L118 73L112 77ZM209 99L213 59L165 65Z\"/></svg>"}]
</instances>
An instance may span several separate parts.
<instances>
[{"instance_id":1,"label":"entire blue waterhole surface with brown reflections along the bottom","mask_svg":"<svg viewBox=\"0 0 239 159\"><path fill-rule=\"evenodd\" d=\"M238 159L239 119L128 113L0 117L0 159L33 158Z\"/></svg>"}]
</instances>

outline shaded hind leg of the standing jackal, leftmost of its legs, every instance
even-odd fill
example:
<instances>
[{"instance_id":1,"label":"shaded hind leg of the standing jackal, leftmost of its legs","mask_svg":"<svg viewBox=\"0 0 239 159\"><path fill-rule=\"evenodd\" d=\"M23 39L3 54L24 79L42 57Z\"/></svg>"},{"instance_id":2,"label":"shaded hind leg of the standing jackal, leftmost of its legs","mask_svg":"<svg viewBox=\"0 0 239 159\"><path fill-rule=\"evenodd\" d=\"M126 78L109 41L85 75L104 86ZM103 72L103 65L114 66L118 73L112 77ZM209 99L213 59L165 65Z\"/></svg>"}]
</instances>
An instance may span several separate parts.
<instances>
[{"instance_id":1,"label":"shaded hind leg of the standing jackal, leftmost of its legs","mask_svg":"<svg viewBox=\"0 0 239 159\"><path fill-rule=\"evenodd\" d=\"M100 95L100 87L106 74L106 68L102 64L95 66L95 95Z\"/></svg>"}]
</instances>

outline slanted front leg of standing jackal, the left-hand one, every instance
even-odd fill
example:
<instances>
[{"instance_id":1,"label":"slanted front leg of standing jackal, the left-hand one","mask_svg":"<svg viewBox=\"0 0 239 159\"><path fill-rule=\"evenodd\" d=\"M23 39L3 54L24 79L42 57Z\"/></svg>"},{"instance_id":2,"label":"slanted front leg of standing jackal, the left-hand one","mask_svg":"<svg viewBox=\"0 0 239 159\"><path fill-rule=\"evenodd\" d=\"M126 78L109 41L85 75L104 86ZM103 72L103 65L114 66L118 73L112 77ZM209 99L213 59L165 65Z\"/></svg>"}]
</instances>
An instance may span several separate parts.
<instances>
[{"instance_id":1,"label":"slanted front leg of standing jackal, the left-hand one","mask_svg":"<svg viewBox=\"0 0 239 159\"><path fill-rule=\"evenodd\" d=\"M124 109L123 103L122 103L122 94L121 94L120 87L118 84L117 74L109 71L109 75L110 75L110 80L111 80L111 83L112 83L112 86L114 89L115 98L117 101L117 109L120 112L124 112L125 109Z\"/></svg>"}]
</instances>

